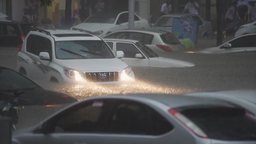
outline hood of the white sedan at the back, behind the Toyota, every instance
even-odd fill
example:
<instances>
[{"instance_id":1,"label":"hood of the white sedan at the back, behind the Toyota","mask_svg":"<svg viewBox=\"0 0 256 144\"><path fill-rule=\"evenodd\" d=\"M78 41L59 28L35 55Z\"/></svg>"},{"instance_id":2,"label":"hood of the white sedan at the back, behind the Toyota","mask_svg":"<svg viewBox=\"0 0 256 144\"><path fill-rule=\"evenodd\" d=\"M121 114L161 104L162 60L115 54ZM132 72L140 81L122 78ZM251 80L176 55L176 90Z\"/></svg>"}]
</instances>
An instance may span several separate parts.
<instances>
[{"instance_id":1,"label":"hood of the white sedan at the back, behind the Toyota","mask_svg":"<svg viewBox=\"0 0 256 144\"><path fill-rule=\"evenodd\" d=\"M82 30L95 32L109 29L112 25L113 24L81 23L79 25L74 26L74 28L80 28Z\"/></svg>"}]
</instances>

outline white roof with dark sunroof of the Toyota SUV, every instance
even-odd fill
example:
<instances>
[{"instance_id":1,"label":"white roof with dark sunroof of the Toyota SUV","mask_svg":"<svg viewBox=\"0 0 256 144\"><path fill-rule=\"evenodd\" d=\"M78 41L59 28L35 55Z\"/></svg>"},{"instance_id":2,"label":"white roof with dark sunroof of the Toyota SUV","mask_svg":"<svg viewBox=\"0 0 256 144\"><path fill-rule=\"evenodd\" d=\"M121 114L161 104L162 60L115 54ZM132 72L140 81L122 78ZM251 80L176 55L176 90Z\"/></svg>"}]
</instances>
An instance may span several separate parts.
<instances>
[{"instance_id":1,"label":"white roof with dark sunroof of the Toyota SUV","mask_svg":"<svg viewBox=\"0 0 256 144\"><path fill-rule=\"evenodd\" d=\"M51 33L51 36L56 41L65 40L101 40L99 37L89 33L75 31L75 30L45 30Z\"/></svg>"}]
</instances>

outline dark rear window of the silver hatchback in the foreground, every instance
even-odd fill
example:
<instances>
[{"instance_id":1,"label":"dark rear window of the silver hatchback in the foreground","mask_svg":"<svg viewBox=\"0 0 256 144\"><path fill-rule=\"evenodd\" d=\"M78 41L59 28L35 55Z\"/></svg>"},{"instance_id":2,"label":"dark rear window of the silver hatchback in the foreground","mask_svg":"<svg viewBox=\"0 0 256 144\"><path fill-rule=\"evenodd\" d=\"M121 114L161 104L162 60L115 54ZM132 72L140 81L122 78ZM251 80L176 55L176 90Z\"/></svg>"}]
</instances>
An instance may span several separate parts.
<instances>
[{"instance_id":1,"label":"dark rear window of the silver hatchback in the foreground","mask_svg":"<svg viewBox=\"0 0 256 144\"><path fill-rule=\"evenodd\" d=\"M256 140L256 119L242 108L189 108L181 113L211 139Z\"/></svg>"}]
</instances>

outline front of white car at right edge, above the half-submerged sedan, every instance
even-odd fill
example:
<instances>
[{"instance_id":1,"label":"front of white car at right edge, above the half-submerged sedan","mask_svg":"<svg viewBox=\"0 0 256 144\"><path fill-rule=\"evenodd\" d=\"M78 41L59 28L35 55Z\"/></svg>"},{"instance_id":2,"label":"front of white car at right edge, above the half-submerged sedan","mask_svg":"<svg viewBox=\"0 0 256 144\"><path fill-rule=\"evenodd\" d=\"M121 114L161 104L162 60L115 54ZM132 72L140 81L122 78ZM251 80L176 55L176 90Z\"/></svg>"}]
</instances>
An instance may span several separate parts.
<instances>
[{"instance_id":1,"label":"front of white car at right edge, above the half-submerged sedan","mask_svg":"<svg viewBox=\"0 0 256 144\"><path fill-rule=\"evenodd\" d=\"M235 33L235 37L242 36L244 34L252 34L256 33L256 21L242 25L238 28L237 32Z\"/></svg>"}]
</instances>

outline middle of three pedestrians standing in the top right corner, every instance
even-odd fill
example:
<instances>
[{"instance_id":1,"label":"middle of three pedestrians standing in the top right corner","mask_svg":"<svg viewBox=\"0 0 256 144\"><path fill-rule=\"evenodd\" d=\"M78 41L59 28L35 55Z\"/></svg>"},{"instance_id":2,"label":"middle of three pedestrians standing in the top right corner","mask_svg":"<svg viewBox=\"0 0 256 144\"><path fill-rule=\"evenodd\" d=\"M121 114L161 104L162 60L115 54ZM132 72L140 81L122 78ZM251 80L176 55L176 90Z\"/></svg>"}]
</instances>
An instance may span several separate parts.
<instances>
[{"instance_id":1,"label":"middle of three pedestrians standing in the top right corner","mask_svg":"<svg viewBox=\"0 0 256 144\"><path fill-rule=\"evenodd\" d=\"M249 3L246 0L237 2L237 16L239 20L246 20Z\"/></svg>"}]
</instances>

